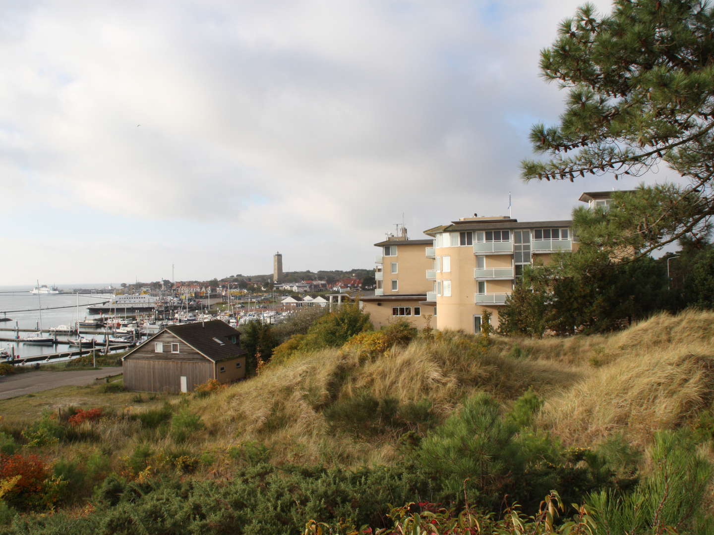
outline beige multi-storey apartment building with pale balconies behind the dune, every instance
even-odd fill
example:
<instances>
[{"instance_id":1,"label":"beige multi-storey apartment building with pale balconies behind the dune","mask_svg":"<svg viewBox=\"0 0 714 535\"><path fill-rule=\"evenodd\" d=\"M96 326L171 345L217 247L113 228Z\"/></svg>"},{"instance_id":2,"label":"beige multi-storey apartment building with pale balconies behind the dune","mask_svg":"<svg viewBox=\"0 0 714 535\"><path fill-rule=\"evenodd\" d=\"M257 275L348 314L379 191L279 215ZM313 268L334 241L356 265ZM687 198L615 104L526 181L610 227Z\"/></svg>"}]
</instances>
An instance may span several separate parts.
<instances>
[{"instance_id":1,"label":"beige multi-storey apartment building with pale balconies behind the dune","mask_svg":"<svg viewBox=\"0 0 714 535\"><path fill-rule=\"evenodd\" d=\"M580 201L607 207L612 192L585 192ZM361 297L375 327L408 320L439 330L481 332L483 312L506 305L526 265L544 265L553 253L577 250L571 220L525 221L505 215L460 218L409 240L406 229L375 243L375 295Z\"/></svg>"}]
</instances>

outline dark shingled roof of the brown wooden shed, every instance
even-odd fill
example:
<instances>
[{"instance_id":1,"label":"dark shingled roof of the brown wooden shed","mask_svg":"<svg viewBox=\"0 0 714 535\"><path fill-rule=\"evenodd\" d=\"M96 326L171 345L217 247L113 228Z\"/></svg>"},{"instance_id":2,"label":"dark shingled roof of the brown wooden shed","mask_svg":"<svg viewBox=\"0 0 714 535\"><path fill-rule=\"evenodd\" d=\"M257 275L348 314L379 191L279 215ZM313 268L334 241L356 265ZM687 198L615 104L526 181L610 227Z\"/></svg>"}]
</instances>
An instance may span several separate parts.
<instances>
[{"instance_id":1,"label":"dark shingled roof of the brown wooden shed","mask_svg":"<svg viewBox=\"0 0 714 535\"><path fill-rule=\"evenodd\" d=\"M221 320L169 325L166 330L214 362L234 359L248 352L230 340L231 336L239 337L241 333Z\"/></svg>"}]
</instances>

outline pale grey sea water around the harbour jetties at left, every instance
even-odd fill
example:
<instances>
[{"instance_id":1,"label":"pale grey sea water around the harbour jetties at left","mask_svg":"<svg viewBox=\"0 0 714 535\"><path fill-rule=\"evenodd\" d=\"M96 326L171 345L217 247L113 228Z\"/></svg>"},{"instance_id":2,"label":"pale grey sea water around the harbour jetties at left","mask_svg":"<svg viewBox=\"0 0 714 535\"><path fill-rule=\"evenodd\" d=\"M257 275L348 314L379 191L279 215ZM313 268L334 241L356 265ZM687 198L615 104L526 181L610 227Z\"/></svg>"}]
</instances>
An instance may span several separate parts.
<instances>
[{"instance_id":1,"label":"pale grey sea water around the harbour jetties at left","mask_svg":"<svg viewBox=\"0 0 714 535\"><path fill-rule=\"evenodd\" d=\"M71 291L73 287L89 289L101 289L110 287L110 284L78 284L63 287L58 285L59 290ZM40 327L46 334L49 327L59 325L69 325L74 327L75 322L84 320L85 317L98 317L87 314L87 305L111 299L111 293L103 294L48 294L33 295L31 286L0 286L0 318L8 317L11 321L0 322L0 339L15 338L16 328L36 329ZM79 302L79 306L78 306ZM6 329L12 329L6 330ZM19 332L20 337L29 336L31 332ZM104 335L83 335L89 340L95 339L97 342L104 341ZM60 339L67 338L66 334L58 334ZM72 336L74 337L74 335ZM9 342L0 340L0 348L14 349L15 355L20 357L34 357L36 355L47 355L59 351L76 349L69 345L26 345L22 342Z\"/></svg>"}]
</instances>

